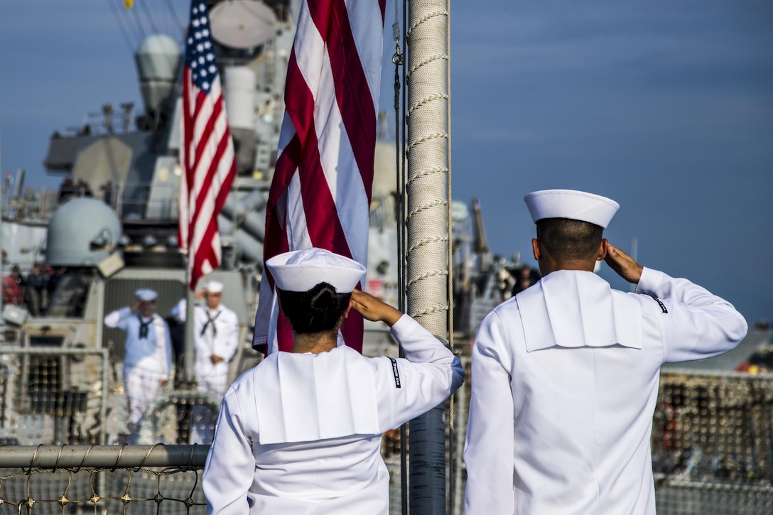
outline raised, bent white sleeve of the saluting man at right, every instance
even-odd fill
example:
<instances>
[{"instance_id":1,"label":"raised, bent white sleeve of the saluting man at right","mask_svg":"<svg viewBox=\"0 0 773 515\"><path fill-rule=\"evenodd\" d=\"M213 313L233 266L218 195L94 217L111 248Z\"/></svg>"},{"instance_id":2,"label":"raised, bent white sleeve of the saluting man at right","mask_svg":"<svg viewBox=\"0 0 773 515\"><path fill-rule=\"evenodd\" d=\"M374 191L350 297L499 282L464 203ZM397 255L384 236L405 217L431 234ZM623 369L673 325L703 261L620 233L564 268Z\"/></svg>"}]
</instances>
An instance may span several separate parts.
<instances>
[{"instance_id":1,"label":"raised, bent white sleeve of the saluting man at right","mask_svg":"<svg viewBox=\"0 0 773 515\"><path fill-rule=\"evenodd\" d=\"M662 302L655 316L662 326L666 362L717 356L746 336L746 320L730 302L687 279L644 268L636 292L655 295Z\"/></svg>"}]
</instances>

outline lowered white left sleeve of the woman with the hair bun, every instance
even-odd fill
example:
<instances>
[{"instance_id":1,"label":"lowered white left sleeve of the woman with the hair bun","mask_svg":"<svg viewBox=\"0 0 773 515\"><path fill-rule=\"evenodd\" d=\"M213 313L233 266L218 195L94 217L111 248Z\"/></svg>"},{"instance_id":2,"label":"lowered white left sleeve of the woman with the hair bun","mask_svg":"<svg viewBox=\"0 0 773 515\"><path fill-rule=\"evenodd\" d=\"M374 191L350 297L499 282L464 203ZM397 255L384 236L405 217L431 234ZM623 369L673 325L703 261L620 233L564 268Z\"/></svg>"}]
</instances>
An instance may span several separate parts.
<instances>
[{"instance_id":1,"label":"lowered white left sleeve of the woman with the hair bun","mask_svg":"<svg viewBox=\"0 0 773 515\"><path fill-rule=\"evenodd\" d=\"M206 513L249 513L247 494L255 475L255 457L252 441L244 431L243 411L233 387L229 387L223 397L215 427L202 476Z\"/></svg>"}]
</instances>

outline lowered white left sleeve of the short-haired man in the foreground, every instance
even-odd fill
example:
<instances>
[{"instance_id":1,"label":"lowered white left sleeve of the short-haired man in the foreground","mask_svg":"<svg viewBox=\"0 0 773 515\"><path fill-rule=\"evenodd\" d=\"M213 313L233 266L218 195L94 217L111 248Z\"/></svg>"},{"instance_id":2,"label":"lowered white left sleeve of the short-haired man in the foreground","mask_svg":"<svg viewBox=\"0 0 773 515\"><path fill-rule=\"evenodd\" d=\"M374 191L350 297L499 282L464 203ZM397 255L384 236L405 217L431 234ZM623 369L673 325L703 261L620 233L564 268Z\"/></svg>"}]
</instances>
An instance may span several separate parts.
<instances>
[{"instance_id":1,"label":"lowered white left sleeve of the short-haired man in the foreground","mask_svg":"<svg viewBox=\"0 0 773 515\"><path fill-rule=\"evenodd\" d=\"M472 396L465 441L465 513L512 513L515 413L512 353L499 313L482 322L472 347Z\"/></svg>"}]
</instances>

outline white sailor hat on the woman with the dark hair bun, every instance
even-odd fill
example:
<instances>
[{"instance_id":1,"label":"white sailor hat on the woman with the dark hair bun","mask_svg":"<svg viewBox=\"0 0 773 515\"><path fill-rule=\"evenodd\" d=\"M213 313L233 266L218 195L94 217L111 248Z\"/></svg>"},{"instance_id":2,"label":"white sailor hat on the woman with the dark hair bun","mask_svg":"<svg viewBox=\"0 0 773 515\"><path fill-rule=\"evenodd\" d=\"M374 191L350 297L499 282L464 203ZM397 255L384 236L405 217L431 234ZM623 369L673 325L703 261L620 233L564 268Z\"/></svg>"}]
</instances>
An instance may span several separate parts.
<instances>
[{"instance_id":1,"label":"white sailor hat on the woman with the dark hair bun","mask_svg":"<svg viewBox=\"0 0 773 515\"><path fill-rule=\"evenodd\" d=\"M349 293L366 272L362 264L349 257L315 247L278 254L266 265L277 288L285 292L308 292L326 282L338 293Z\"/></svg>"}]
</instances>

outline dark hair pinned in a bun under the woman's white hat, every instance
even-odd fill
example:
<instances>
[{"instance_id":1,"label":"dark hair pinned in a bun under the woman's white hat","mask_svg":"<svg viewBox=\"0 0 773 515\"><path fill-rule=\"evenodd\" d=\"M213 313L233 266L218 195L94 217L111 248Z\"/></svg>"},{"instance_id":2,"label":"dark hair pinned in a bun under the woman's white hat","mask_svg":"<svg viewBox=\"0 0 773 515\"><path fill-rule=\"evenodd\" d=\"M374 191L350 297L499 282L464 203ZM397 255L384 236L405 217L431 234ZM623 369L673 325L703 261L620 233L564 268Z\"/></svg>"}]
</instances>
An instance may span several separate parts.
<instances>
[{"instance_id":1,"label":"dark hair pinned in a bun under the woman's white hat","mask_svg":"<svg viewBox=\"0 0 773 515\"><path fill-rule=\"evenodd\" d=\"M351 292L337 293L321 282L308 292L278 290L282 312L298 334L323 333L335 329L349 306Z\"/></svg>"}]
</instances>

